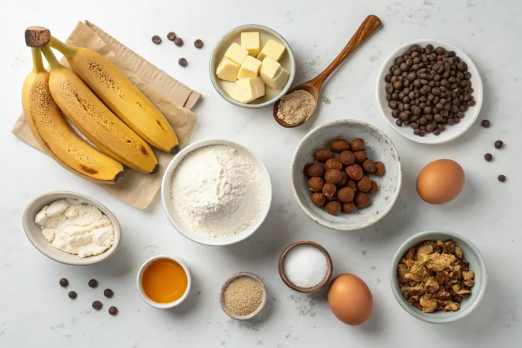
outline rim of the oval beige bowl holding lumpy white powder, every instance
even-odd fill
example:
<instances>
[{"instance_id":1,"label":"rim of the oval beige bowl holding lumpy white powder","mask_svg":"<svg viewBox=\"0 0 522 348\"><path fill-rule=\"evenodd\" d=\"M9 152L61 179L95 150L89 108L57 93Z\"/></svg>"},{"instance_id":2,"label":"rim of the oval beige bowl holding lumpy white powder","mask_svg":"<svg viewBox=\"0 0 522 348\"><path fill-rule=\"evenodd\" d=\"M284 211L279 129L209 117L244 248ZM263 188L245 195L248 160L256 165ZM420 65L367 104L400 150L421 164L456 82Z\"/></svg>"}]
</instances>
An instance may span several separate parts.
<instances>
[{"instance_id":1,"label":"rim of the oval beige bowl holding lumpy white powder","mask_svg":"<svg viewBox=\"0 0 522 348\"><path fill-rule=\"evenodd\" d=\"M55 259L54 257L51 257L50 255L47 255L40 248L38 243L33 238L32 234L28 232L29 226L26 225L26 220L28 219L29 208L32 207L33 205L35 205L35 203L39 199L42 199L43 197L47 197L47 196L51 196L51 195L66 195L66 196L69 196L69 198L78 199L78 200L84 200L84 201L86 201L89 204L93 203L94 206L96 206L98 209L100 209L111 220L112 224L114 225L114 233L115 233L115 235L119 235L118 238L115 238L115 241L117 241L117 242L114 243L109 249L105 250L103 253L101 253L99 255L89 256L89 257L85 257L85 258L80 258L78 256L78 262L66 262L66 261L63 261L63 260ZM45 192L45 193L43 193L43 194L41 194L41 195L31 199L31 201L26 206L26 209L23 210L22 227L23 227L23 232L27 236L27 239L29 239L29 242L31 242L31 244L35 248L37 248L37 250L40 251L41 254L45 255L46 257L50 258L51 260L54 260L56 262L60 262L63 265L71 265L71 266L89 266L89 265L94 265L95 263L98 263L98 262L101 262L103 260L108 259L114 253L116 253L117 249L120 247L120 244L121 244L121 241L122 241L122 235L123 235L122 227L120 225L120 221L118 221L118 219L116 218L116 215L114 215L114 213L111 210L109 210L109 208L105 207L101 202L99 202L98 200L96 200L94 198L91 198L91 197L89 197L87 195L79 194L79 193L74 192L74 191L48 191L48 192ZM62 251L62 250L59 250L59 249L56 249L56 250ZM65 253L65 251L62 251L62 253ZM74 255L74 254L69 254L69 253L65 253L65 254L67 254L67 255Z\"/></svg>"}]
</instances>

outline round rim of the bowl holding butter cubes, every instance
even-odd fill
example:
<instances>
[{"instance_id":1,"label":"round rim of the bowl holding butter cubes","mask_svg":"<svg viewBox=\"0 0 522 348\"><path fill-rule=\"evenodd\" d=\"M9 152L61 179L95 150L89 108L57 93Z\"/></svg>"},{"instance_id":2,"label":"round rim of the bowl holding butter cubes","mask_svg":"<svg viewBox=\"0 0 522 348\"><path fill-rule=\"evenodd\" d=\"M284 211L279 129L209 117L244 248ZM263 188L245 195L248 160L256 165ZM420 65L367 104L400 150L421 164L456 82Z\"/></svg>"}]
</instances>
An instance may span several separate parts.
<instances>
[{"instance_id":1,"label":"round rim of the bowl holding butter cubes","mask_svg":"<svg viewBox=\"0 0 522 348\"><path fill-rule=\"evenodd\" d=\"M289 71L290 73L290 77L288 78L288 82L286 84L286 86L283 87L283 89L281 89L281 91L279 92L279 94L276 95L276 97L270 99L270 100L267 100L266 102L264 103L259 103L259 104L243 104L243 103L240 103L238 101L235 101L233 100L232 98L229 97L229 95L227 93L224 93L221 88L218 86L218 82L217 82L217 77L216 77L216 73L214 71L214 68L212 66L212 60L213 60L213 57L215 56L216 54L216 50L218 49L218 46L220 45L220 43L226 39L232 32L236 31L236 30L239 30L239 29L253 29L253 28L258 28L258 29L264 29L270 33L272 33L275 37L277 37L283 44L284 46L286 47L287 49L287 52L288 52L288 55L290 57L290 62L291 62L291 71ZM268 27L265 27L265 26L262 26L262 25L258 25L258 24L247 24L247 25L243 25L243 26L239 26L239 27L235 27L233 29L230 29L229 31L227 31L219 40L218 42L216 42L216 45L214 46L214 48L212 49L212 53L210 53L210 59L209 59L209 62L208 62L208 73L210 75L210 81L212 81L212 86L214 87L214 89L216 89L216 91L218 92L219 95L221 95L221 97L228 101L229 103L231 104L234 104L236 106L240 106L240 107L246 107L247 109L261 109L262 107L266 107L266 106L269 106L269 105L272 105L274 104L276 101L278 101L279 99L281 99L281 97L286 94L288 92L288 90L290 89L290 87L292 86L292 83L293 83L293 80L295 78L295 57L294 57L294 54L293 54L293 51L292 51L292 47L290 46L290 44L288 43L288 41L286 39L284 39L282 37L281 34L279 34L277 31L275 31L274 29L271 29L271 28L268 28Z\"/></svg>"}]
</instances>

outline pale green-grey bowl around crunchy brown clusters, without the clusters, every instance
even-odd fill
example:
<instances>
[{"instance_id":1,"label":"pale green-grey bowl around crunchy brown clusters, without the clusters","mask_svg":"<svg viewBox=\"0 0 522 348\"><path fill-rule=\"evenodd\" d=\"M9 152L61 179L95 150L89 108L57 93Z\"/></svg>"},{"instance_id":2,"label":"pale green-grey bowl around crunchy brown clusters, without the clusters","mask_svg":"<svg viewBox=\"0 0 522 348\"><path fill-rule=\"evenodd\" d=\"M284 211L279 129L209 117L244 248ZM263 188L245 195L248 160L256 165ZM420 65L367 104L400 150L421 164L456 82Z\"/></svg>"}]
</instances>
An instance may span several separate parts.
<instances>
[{"instance_id":1,"label":"pale green-grey bowl around crunchy brown clusters, without the clusters","mask_svg":"<svg viewBox=\"0 0 522 348\"><path fill-rule=\"evenodd\" d=\"M444 313L444 311L424 313L422 310L410 305L408 300L402 296L399 287L399 280L397 278L397 265L409 248L414 247L424 241L444 242L447 239L455 239L456 246L462 249L462 253L464 253L464 259L469 261L469 270L475 273L475 284L471 287L471 296L462 299L459 310L448 313ZM431 230L417 233L411 236L399 247L390 265L390 283L392 285L392 292L399 305L413 317L434 324L452 322L464 318L470 314L473 309L477 308L482 297L484 296L487 282L488 272L479 249L477 249L477 247L474 246L473 243L471 243L467 238L461 236L458 233L450 231Z\"/></svg>"}]
</instances>

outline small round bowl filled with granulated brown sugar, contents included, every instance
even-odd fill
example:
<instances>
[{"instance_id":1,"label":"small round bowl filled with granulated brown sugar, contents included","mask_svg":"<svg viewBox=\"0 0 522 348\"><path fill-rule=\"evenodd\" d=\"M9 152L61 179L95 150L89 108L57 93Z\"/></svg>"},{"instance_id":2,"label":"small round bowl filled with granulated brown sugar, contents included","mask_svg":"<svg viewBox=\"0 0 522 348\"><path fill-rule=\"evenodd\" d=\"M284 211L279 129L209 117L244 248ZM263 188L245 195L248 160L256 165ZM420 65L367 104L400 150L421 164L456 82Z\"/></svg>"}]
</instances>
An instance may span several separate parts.
<instances>
[{"instance_id":1,"label":"small round bowl filled with granulated brown sugar, contents included","mask_svg":"<svg viewBox=\"0 0 522 348\"><path fill-rule=\"evenodd\" d=\"M265 284L253 273L236 273L221 286L219 304L233 319L252 319L265 307Z\"/></svg>"}]
</instances>

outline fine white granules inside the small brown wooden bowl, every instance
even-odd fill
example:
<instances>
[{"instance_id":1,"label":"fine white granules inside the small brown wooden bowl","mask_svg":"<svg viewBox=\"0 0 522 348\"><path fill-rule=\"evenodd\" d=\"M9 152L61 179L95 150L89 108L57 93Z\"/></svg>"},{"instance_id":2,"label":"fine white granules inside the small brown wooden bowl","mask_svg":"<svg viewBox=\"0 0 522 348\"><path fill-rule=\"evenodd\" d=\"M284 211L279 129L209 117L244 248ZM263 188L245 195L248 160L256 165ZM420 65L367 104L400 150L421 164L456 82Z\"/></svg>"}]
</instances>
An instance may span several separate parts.
<instances>
[{"instance_id":1,"label":"fine white granules inside the small brown wooden bowl","mask_svg":"<svg viewBox=\"0 0 522 348\"><path fill-rule=\"evenodd\" d=\"M313 245L298 245L284 257L284 274L297 286L312 287L321 283L328 272L328 261Z\"/></svg>"}]
</instances>

